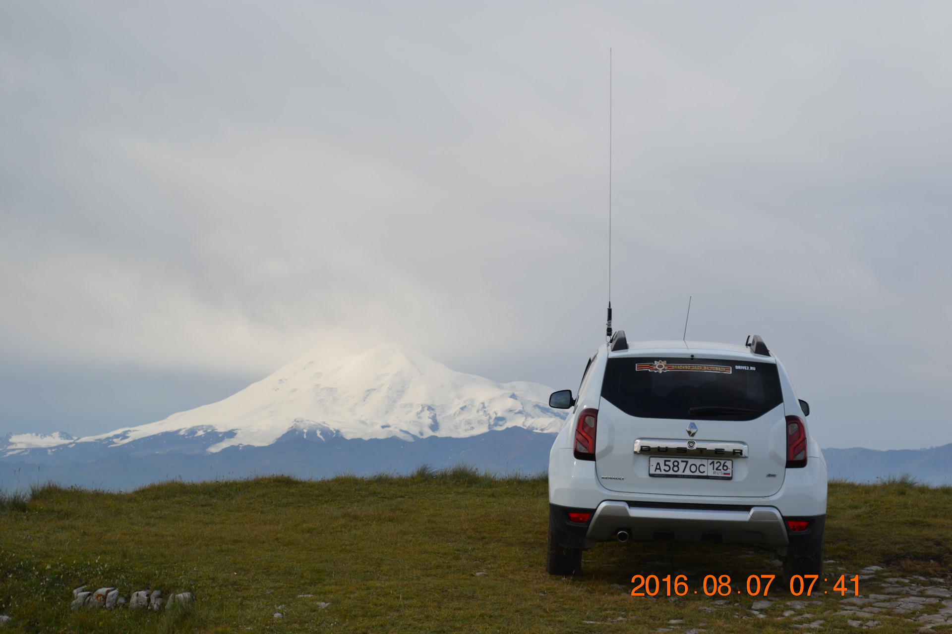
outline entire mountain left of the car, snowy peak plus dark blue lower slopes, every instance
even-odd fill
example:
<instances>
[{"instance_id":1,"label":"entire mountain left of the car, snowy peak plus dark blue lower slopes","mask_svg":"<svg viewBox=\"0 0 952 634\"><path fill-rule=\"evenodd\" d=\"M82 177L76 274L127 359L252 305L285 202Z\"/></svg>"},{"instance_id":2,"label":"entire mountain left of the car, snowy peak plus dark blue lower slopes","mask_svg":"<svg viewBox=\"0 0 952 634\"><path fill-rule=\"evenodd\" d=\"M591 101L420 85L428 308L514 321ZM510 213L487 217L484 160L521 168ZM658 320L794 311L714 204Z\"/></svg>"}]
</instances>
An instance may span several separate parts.
<instances>
[{"instance_id":1,"label":"entire mountain left of the car, snowy peak plus dark blue lower slopes","mask_svg":"<svg viewBox=\"0 0 952 634\"><path fill-rule=\"evenodd\" d=\"M550 392L454 372L396 346L314 352L222 401L155 423L82 438L8 434L0 438L0 487L19 478L129 489L169 478L327 477L458 462L543 471L567 416L548 407Z\"/></svg>"}]
</instances>

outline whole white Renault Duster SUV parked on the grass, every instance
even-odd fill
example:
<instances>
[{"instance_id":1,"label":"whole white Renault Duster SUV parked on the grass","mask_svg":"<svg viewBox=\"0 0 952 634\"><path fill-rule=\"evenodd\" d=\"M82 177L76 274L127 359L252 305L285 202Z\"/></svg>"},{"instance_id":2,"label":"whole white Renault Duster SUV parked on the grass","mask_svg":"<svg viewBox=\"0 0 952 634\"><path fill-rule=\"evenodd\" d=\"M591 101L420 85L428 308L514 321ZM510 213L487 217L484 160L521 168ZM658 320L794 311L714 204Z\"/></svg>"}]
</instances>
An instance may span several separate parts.
<instances>
[{"instance_id":1,"label":"whole white Renault Duster SUV parked on the grass","mask_svg":"<svg viewBox=\"0 0 952 634\"><path fill-rule=\"evenodd\" d=\"M598 542L755 542L786 576L821 574L826 462L780 360L745 346L628 343L585 367L548 459L551 574L575 574Z\"/></svg>"}]
</instances>

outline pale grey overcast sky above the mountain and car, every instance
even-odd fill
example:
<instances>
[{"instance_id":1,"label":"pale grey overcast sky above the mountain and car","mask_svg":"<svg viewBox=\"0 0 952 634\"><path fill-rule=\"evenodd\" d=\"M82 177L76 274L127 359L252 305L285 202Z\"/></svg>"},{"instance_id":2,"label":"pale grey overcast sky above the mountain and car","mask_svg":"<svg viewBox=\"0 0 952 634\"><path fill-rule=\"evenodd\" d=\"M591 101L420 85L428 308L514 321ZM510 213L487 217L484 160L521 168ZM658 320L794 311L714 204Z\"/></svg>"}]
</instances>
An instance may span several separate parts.
<instances>
[{"instance_id":1,"label":"pale grey overcast sky above the mountain and car","mask_svg":"<svg viewBox=\"0 0 952 634\"><path fill-rule=\"evenodd\" d=\"M0 434L307 350L577 388L631 338L785 362L823 447L952 442L947 3L0 5Z\"/></svg>"}]
</instances>

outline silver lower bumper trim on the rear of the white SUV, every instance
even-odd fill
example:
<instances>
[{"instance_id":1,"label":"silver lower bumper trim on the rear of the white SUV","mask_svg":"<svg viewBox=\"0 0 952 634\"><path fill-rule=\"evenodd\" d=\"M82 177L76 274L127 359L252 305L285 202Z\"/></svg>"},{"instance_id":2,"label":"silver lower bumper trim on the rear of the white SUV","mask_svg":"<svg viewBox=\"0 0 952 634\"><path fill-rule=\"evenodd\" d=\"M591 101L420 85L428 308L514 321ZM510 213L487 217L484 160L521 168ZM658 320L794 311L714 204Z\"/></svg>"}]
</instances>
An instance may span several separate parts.
<instances>
[{"instance_id":1,"label":"silver lower bumper trim on the rear of the white SUV","mask_svg":"<svg viewBox=\"0 0 952 634\"><path fill-rule=\"evenodd\" d=\"M657 509L629 507L605 501L595 509L586 537L604 542L625 528L636 542L649 542L655 533L673 533L677 542L700 542L704 534L720 534L724 543L756 542L786 546L783 516L773 507L750 510Z\"/></svg>"}]
</instances>

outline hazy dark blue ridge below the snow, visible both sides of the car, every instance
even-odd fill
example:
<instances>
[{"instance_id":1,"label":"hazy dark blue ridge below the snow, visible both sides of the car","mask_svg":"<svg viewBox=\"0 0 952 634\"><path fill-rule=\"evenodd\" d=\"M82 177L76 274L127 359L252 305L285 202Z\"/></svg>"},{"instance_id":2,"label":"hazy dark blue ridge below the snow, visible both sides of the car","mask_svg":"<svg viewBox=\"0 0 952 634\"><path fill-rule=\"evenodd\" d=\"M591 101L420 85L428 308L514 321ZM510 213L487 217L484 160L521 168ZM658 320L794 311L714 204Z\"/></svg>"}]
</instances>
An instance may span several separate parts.
<instances>
[{"instance_id":1,"label":"hazy dark blue ridge below the snow, visible both sides of the car","mask_svg":"<svg viewBox=\"0 0 952 634\"><path fill-rule=\"evenodd\" d=\"M212 434L215 441L217 434ZM443 468L467 463L479 469L535 473L548 468L554 433L509 427L453 438L430 435L414 440L344 438L291 430L274 443L230 446L222 451L189 451L188 436L167 432L117 448L59 454L13 454L0 459L0 488L46 482L87 488L129 490L168 479L208 480L285 473L301 478L339 473L370 475ZM184 445L183 445L184 443ZM182 451L183 447L187 451ZM831 479L876 482L908 473L932 486L952 484L952 444L922 450L825 449ZM44 459L48 458L48 459Z\"/></svg>"}]
</instances>

